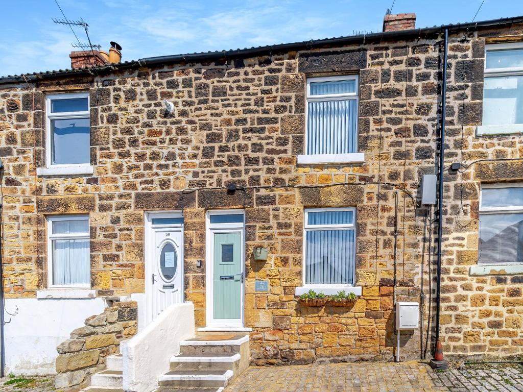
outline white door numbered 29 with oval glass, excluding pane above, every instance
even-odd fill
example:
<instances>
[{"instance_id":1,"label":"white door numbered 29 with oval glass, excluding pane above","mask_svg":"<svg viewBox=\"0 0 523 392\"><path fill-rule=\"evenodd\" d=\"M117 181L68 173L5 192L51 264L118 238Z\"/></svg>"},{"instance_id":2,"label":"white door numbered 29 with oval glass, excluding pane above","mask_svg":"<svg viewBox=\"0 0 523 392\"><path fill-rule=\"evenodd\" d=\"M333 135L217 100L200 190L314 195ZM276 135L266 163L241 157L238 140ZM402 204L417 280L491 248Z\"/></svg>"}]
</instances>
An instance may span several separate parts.
<instances>
[{"instance_id":1,"label":"white door numbered 29 with oval glass, excluding pane above","mask_svg":"<svg viewBox=\"0 0 523 392\"><path fill-rule=\"evenodd\" d=\"M154 221L154 220L153 220ZM153 318L169 305L183 302L183 236L180 227L154 227L152 310Z\"/></svg>"}]
</instances>

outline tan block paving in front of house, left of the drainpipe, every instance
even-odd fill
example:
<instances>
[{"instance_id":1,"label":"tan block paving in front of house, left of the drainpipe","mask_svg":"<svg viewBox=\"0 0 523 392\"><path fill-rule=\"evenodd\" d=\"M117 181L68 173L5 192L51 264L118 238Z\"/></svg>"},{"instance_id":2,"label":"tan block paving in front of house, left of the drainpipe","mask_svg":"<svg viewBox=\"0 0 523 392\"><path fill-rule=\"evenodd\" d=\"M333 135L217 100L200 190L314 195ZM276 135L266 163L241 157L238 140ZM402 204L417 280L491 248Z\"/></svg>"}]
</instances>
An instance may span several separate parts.
<instances>
[{"instance_id":1,"label":"tan block paving in front of house, left of the drainpipe","mask_svg":"<svg viewBox=\"0 0 523 392\"><path fill-rule=\"evenodd\" d=\"M224 392L433 392L430 368L416 361L249 367Z\"/></svg>"}]
</instances>

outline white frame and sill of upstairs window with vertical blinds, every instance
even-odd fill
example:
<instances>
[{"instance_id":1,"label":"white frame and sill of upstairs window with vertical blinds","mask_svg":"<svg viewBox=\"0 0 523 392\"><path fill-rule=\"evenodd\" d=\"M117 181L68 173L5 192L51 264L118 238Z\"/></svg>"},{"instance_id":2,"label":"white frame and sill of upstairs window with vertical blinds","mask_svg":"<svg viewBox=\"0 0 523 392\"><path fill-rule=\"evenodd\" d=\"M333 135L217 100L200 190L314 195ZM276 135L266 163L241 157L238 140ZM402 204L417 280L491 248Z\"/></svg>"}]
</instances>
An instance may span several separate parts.
<instances>
[{"instance_id":1,"label":"white frame and sill of upstairs window with vertical blinds","mask_svg":"<svg viewBox=\"0 0 523 392\"><path fill-rule=\"evenodd\" d=\"M354 93L323 94L311 96L311 83L334 82L336 80L356 80L356 90ZM341 76L322 76L309 77L306 80L306 102L305 102L305 141L303 144L304 153L307 151L307 130L309 118L309 102L320 102L325 100L356 100L356 149L358 149L358 123L359 123L359 75ZM298 155L298 164L335 164L335 163L363 163L365 162L364 153L346 154L302 154Z\"/></svg>"}]
</instances>

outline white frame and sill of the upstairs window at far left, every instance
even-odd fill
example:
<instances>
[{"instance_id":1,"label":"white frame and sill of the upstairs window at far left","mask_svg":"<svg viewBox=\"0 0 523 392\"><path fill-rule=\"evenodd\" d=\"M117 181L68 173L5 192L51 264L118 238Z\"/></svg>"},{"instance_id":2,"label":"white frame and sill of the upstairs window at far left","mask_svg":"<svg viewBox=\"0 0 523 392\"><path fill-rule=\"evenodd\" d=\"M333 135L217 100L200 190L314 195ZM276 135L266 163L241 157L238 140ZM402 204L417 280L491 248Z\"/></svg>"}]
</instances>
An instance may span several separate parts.
<instances>
[{"instance_id":1,"label":"white frame and sill of the upstairs window at far left","mask_svg":"<svg viewBox=\"0 0 523 392\"><path fill-rule=\"evenodd\" d=\"M51 103L54 100L60 99L75 99L75 98L87 98L87 110L76 111L76 112L51 112ZM88 91L82 91L81 93L58 93L46 95L46 167L37 168L37 175L92 175L94 172L93 166L87 162L84 164L61 164L53 165L51 158L52 151L52 130L51 120L67 120L67 119L88 119L90 118L90 97ZM90 147L90 146L89 146Z\"/></svg>"}]
</instances>

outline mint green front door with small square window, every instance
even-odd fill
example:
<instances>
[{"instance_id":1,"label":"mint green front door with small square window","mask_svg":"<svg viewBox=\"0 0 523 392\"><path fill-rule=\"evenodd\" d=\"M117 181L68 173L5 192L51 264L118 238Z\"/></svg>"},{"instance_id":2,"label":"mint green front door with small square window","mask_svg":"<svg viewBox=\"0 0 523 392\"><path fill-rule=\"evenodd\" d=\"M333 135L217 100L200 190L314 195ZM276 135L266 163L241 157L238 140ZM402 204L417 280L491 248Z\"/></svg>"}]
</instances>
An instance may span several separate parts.
<instances>
[{"instance_id":1,"label":"mint green front door with small square window","mask_svg":"<svg viewBox=\"0 0 523 392\"><path fill-rule=\"evenodd\" d=\"M242 244L240 233L214 233L213 291L214 319L242 317Z\"/></svg>"}]
</instances>

